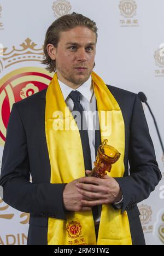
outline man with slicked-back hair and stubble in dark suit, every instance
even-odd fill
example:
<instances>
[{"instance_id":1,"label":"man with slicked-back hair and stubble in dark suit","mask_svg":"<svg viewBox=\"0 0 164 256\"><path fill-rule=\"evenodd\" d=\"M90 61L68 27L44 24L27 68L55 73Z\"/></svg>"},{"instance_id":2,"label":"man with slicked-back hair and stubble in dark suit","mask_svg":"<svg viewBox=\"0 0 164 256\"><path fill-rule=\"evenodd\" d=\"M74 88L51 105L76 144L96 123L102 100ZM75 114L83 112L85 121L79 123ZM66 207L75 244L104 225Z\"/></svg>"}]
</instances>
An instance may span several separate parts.
<instances>
[{"instance_id":1,"label":"man with slicked-back hair and stubble in dark suit","mask_svg":"<svg viewBox=\"0 0 164 256\"><path fill-rule=\"evenodd\" d=\"M75 13L56 20L46 33L43 63L50 72L56 71L65 102L72 110L75 106L97 110L91 86L96 43L95 22ZM132 245L145 245L137 203L149 197L161 173L138 96L114 86L107 85L107 88L118 102L125 123L124 177L79 177L69 183L50 183L51 166L45 136L47 89L13 105L0 184L6 203L31 214L28 245L48 245L49 218L67 220L70 212L92 210L97 237L102 205L112 205L115 211L121 208L121 214L127 212ZM79 101L74 100L74 92L80 97ZM80 136L85 171L89 174L93 167L89 161L96 158L102 143L101 133L96 130L95 133L80 133Z\"/></svg>"}]
</instances>

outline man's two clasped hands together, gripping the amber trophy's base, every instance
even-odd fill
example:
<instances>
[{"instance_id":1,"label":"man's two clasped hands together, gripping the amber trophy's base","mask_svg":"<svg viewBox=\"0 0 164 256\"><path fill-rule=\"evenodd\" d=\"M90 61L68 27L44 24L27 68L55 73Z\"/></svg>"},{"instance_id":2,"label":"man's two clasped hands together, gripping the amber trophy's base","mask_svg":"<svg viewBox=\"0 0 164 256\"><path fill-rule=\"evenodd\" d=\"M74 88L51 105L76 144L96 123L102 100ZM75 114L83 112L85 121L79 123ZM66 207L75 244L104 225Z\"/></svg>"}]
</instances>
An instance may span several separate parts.
<instances>
[{"instance_id":1,"label":"man's two clasped hands together, gripping the amber trophy's base","mask_svg":"<svg viewBox=\"0 0 164 256\"><path fill-rule=\"evenodd\" d=\"M86 171L89 174L91 171ZM84 184L87 183L87 184ZM115 179L106 175L104 179L83 177L66 185L63 203L66 210L90 211L93 206L120 201L122 192Z\"/></svg>"}]
</instances>

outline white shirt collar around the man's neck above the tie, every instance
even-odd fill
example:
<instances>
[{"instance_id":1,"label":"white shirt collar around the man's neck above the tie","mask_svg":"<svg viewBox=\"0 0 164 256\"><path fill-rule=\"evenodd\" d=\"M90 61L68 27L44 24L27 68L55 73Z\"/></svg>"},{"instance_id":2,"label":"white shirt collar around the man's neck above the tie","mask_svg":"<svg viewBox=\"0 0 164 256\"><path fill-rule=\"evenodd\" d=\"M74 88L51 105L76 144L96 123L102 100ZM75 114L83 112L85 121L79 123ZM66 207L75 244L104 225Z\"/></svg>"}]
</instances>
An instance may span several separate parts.
<instances>
[{"instance_id":1,"label":"white shirt collar around the man's neck above the tie","mask_svg":"<svg viewBox=\"0 0 164 256\"><path fill-rule=\"evenodd\" d=\"M73 90L71 87L62 83L60 80L58 80L58 83L60 85L65 101L72 91L79 91L80 94L82 94L87 99L87 101L91 102L91 98L93 95L93 85L91 76L84 84L80 85L80 87L77 90Z\"/></svg>"}]
</instances>

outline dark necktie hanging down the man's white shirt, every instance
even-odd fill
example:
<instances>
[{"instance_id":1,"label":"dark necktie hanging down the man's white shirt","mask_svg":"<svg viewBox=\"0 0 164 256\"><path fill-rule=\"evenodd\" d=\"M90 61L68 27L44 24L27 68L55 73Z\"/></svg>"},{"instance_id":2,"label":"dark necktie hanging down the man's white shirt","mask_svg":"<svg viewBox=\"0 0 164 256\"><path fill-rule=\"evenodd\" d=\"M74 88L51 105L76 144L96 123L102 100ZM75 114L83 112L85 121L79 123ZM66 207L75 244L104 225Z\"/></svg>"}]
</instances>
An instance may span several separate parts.
<instances>
[{"instance_id":1,"label":"dark necktie hanging down the man's white shirt","mask_svg":"<svg viewBox=\"0 0 164 256\"><path fill-rule=\"evenodd\" d=\"M81 127L79 127L78 122L77 122L77 125L79 128L81 143L82 143L82 147L83 147L85 170L92 170L89 136L88 136L87 130L83 130L83 125L84 125L84 127L87 127L87 126L86 126L86 119L85 119L85 117L83 118L84 109L80 104L80 95L81 94L79 91L72 91L71 94L69 94L69 97L74 102L73 111L78 111L80 113L80 117L81 117L80 118L81 119ZM74 118L76 118L76 117L74 116ZM92 208L92 213L93 213L93 219L95 220L98 216L97 206Z\"/></svg>"}]
</instances>

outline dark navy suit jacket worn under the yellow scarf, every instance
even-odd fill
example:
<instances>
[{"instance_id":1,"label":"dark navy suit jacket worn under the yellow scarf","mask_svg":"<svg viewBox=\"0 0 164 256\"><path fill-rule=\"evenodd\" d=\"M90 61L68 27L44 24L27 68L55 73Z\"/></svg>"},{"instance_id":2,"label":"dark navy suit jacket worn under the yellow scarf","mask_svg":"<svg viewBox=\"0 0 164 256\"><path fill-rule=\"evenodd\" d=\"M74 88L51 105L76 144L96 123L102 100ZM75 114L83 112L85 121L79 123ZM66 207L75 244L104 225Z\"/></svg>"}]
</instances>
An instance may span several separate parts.
<instances>
[{"instance_id":1,"label":"dark navy suit jacket worn under the yellow scarf","mask_svg":"<svg viewBox=\"0 0 164 256\"><path fill-rule=\"evenodd\" d=\"M144 245L137 203L149 197L161 173L138 96L107 86L118 101L125 122L125 175L116 178L124 195L122 212L127 211L133 245ZM4 188L4 201L19 211L31 213L28 245L47 245L49 217L66 219L62 197L65 184L50 184L45 95L46 89L14 103L2 159L0 184ZM101 144L99 131L95 137L97 155Z\"/></svg>"}]
</instances>

